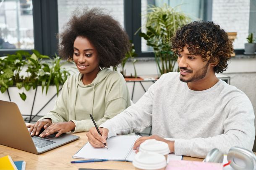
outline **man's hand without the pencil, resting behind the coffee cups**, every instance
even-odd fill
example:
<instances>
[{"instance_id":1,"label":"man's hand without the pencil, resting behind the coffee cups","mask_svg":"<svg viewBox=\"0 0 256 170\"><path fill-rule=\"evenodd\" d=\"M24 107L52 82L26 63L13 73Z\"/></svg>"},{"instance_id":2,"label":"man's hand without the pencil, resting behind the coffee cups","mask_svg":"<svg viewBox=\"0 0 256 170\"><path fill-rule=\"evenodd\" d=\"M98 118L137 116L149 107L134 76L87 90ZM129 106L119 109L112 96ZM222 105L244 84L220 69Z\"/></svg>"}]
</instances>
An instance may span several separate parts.
<instances>
[{"instance_id":1,"label":"man's hand without the pencil, resting behind the coffee cups","mask_svg":"<svg viewBox=\"0 0 256 170\"><path fill-rule=\"evenodd\" d=\"M136 140L135 143L134 143L133 150L136 150L141 145L141 143L144 142L145 140L150 140L150 139L155 139L155 140L159 140L159 141L167 143L168 146L169 146L169 149L170 149L170 153L174 152L174 141L166 140L166 139L164 139L162 137L159 137L157 135L138 138L138 140Z\"/></svg>"}]
</instances>

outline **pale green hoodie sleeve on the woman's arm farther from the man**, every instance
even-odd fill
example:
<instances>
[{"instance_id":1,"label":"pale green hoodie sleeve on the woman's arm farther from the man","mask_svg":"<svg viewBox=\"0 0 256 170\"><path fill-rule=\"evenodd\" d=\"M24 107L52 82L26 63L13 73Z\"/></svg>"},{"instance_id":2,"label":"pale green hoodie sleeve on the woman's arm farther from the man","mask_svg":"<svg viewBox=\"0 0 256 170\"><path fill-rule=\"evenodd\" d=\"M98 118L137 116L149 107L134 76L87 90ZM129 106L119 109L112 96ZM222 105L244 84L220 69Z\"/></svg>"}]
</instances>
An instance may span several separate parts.
<instances>
[{"instance_id":1,"label":"pale green hoodie sleeve on the woman's arm farther from the man","mask_svg":"<svg viewBox=\"0 0 256 170\"><path fill-rule=\"evenodd\" d=\"M39 120L42 119L52 119L52 123L57 122L67 122L68 121L68 80L65 81L63 84L63 87L60 92L60 96L57 97L57 100L55 101L55 106L47 113L44 117L41 117ZM39 121L38 120L38 121Z\"/></svg>"}]
</instances>

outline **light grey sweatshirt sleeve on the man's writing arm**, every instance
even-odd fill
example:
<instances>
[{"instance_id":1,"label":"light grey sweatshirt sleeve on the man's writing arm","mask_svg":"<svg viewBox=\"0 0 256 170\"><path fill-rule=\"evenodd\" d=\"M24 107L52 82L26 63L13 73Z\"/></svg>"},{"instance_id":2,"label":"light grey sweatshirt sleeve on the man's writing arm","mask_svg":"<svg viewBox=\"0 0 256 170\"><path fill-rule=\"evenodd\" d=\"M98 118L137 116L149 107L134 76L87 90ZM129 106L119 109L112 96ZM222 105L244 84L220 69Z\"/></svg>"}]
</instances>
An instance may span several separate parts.
<instances>
[{"instance_id":1,"label":"light grey sweatshirt sleeve on the man's writing arm","mask_svg":"<svg viewBox=\"0 0 256 170\"><path fill-rule=\"evenodd\" d=\"M164 75L161 76L161 78ZM154 91L162 79L149 87L148 91L139 99L136 104L131 105L124 112L118 114L113 119L103 123L100 127L109 129L108 137L129 134L132 132L142 132L146 127L152 125L152 103Z\"/></svg>"}]
</instances>

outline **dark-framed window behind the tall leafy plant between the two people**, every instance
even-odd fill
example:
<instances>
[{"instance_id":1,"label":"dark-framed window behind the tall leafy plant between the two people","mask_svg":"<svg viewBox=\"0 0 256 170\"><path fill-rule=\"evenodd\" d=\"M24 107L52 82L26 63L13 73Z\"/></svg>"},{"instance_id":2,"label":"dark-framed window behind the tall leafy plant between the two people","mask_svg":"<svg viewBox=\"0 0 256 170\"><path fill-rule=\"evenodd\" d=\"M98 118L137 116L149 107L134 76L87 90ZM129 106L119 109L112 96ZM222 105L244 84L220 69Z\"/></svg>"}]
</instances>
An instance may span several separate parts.
<instances>
[{"instance_id":1,"label":"dark-framed window behind the tall leafy plant between the two people","mask_svg":"<svg viewBox=\"0 0 256 170\"><path fill-rule=\"evenodd\" d=\"M170 6L177 6L180 11L191 16L192 20L209 20L212 15L212 0L125 0L125 29L134 43L136 53L141 57L154 56L152 49L146 46L146 41L134 33L146 23L147 6L162 6L167 3ZM127 12L126 12L127 11ZM129 12L132 11L132 14Z\"/></svg>"}]
</instances>

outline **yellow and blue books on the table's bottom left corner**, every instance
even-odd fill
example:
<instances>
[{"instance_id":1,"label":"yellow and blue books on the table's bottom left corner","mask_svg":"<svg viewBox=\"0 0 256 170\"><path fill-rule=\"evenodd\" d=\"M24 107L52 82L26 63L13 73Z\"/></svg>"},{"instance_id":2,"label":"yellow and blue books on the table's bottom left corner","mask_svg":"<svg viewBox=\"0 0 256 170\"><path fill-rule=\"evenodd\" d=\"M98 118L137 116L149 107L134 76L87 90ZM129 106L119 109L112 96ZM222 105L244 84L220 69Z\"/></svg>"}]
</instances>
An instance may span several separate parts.
<instances>
[{"instance_id":1,"label":"yellow and blue books on the table's bottom left corner","mask_svg":"<svg viewBox=\"0 0 256 170\"><path fill-rule=\"evenodd\" d=\"M13 159L6 155L0 157L0 170L25 170L26 162L24 160L13 161Z\"/></svg>"}]
</instances>

